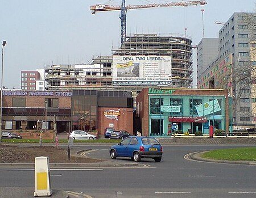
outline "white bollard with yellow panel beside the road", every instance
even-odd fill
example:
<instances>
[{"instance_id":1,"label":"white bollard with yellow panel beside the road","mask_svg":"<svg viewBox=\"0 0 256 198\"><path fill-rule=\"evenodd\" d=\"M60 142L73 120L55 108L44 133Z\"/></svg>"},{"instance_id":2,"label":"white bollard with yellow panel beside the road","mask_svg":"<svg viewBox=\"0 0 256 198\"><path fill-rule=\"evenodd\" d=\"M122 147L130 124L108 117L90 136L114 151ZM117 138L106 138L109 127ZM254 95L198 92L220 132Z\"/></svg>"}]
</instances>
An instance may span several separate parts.
<instances>
[{"instance_id":1,"label":"white bollard with yellow panel beside the road","mask_svg":"<svg viewBox=\"0 0 256 198\"><path fill-rule=\"evenodd\" d=\"M35 158L35 192L34 196L51 196L51 179L49 172L49 158Z\"/></svg>"}]
</instances>

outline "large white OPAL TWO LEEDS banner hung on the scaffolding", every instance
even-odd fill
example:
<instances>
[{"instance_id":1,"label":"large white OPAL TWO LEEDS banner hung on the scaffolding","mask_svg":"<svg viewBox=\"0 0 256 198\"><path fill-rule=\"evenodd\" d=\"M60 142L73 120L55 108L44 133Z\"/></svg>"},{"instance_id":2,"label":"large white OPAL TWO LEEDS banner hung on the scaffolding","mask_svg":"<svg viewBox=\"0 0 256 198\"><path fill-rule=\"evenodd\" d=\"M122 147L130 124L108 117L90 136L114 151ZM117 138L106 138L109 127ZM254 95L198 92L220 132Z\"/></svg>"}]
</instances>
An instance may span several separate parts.
<instances>
[{"instance_id":1,"label":"large white OPAL TWO LEEDS banner hung on the scaffolding","mask_svg":"<svg viewBox=\"0 0 256 198\"><path fill-rule=\"evenodd\" d=\"M113 56L113 85L171 85L170 56Z\"/></svg>"}]
</instances>

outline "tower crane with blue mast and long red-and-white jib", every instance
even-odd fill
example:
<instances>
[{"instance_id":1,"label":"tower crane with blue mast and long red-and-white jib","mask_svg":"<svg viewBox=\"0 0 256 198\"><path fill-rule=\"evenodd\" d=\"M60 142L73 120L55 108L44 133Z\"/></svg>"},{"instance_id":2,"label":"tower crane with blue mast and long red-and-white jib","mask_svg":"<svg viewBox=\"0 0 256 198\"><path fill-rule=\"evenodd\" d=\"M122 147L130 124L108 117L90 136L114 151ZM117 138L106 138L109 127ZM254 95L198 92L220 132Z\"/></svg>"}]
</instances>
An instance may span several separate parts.
<instances>
[{"instance_id":1,"label":"tower crane with blue mast and long red-and-white jib","mask_svg":"<svg viewBox=\"0 0 256 198\"><path fill-rule=\"evenodd\" d=\"M96 12L100 11L116 11L121 10L121 15L119 16L121 20L121 45L126 41L126 11L131 9L146 9L152 7L171 7L171 6L197 6L197 5L205 5L207 2L205 0L201 1L182 1L182 2L170 2L170 3L153 3L146 5L128 5L125 6L125 0L122 0L121 6L113 6L113 5L105 5L105 4L97 4L90 6L90 10L92 14L96 14Z\"/></svg>"}]
</instances>

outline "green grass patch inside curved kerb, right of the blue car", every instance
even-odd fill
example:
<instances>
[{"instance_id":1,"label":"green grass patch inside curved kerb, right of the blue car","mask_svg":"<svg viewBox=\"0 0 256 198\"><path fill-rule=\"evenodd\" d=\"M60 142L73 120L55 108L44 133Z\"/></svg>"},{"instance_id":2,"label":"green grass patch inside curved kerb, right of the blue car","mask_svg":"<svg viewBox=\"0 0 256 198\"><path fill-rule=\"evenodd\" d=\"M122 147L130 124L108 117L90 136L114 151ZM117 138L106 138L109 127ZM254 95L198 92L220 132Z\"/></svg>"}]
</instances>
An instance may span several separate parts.
<instances>
[{"instance_id":1,"label":"green grass patch inside curved kerb, right of the blue car","mask_svg":"<svg viewBox=\"0 0 256 198\"><path fill-rule=\"evenodd\" d=\"M211 150L201 154L201 157L229 161L256 161L256 147Z\"/></svg>"}]
</instances>

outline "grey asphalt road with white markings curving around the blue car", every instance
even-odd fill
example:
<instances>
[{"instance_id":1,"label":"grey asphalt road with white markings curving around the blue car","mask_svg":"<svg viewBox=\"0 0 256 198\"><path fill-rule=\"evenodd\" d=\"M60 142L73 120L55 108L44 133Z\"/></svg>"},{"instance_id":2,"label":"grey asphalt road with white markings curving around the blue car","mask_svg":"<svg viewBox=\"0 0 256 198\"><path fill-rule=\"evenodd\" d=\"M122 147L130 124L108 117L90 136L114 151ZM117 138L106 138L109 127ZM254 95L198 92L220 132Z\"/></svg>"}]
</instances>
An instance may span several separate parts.
<instances>
[{"instance_id":1,"label":"grey asphalt road with white markings curving around the blue car","mask_svg":"<svg viewBox=\"0 0 256 198\"><path fill-rule=\"evenodd\" d=\"M184 158L195 151L238 146L246 145L163 145L162 161L145 159L144 167L54 169L52 188L84 197L256 197L256 166ZM80 147L94 149L87 154L90 157L110 159L109 146ZM34 169L1 168L0 187L34 187Z\"/></svg>"}]
</instances>

